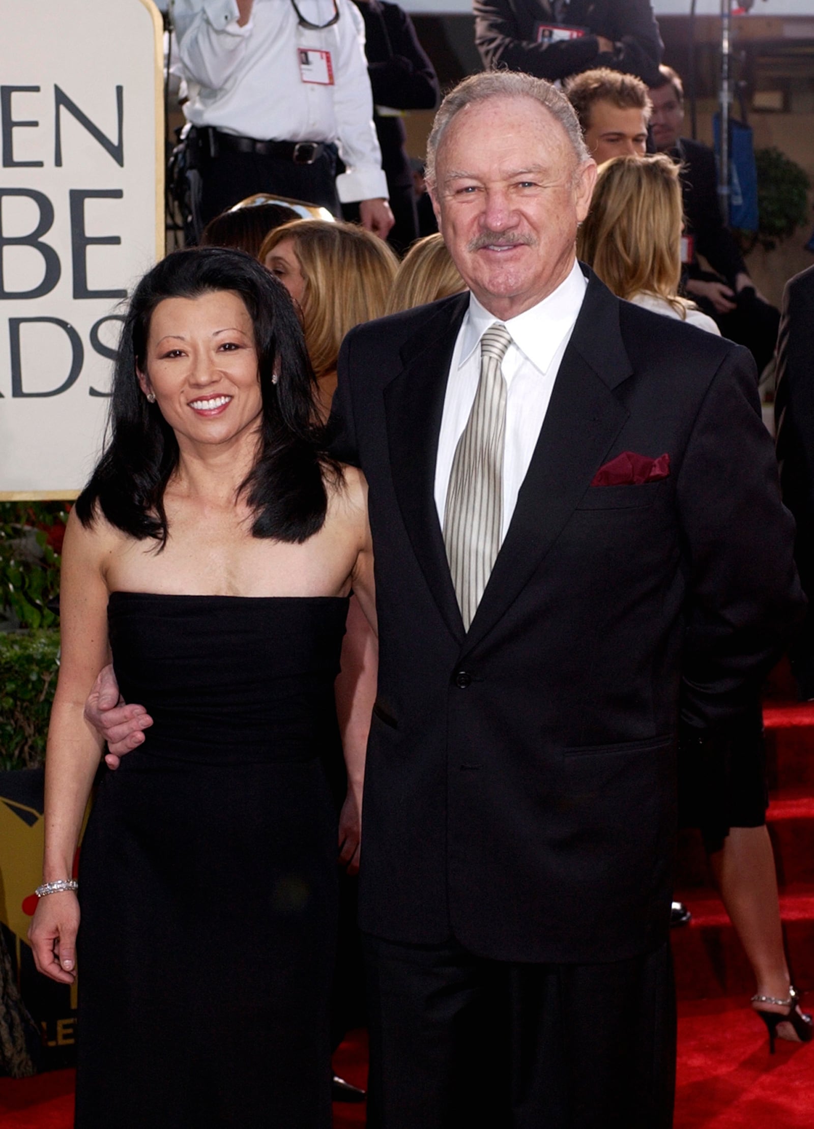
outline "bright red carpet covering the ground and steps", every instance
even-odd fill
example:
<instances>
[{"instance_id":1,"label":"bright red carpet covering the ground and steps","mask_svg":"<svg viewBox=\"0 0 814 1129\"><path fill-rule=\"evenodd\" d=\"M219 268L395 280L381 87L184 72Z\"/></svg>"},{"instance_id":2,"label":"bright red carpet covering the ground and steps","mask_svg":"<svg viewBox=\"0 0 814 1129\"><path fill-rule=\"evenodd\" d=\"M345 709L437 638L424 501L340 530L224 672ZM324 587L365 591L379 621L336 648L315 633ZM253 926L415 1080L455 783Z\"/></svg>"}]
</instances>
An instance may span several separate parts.
<instances>
[{"instance_id":1,"label":"bright red carpet covering the ground and steps","mask_svg":"<svg viewBox=\"0 0 814 1129\"><path fill-rule=\"evenodd\" d=\"M777 858L786 945L804 1007L814 1010L814 704L768 701L764 710L772 789L769 831ZM710 886L700 840L684 833L681 896L689 927L673 931L679 988L675 1129L814 1127L814 1042L778 1042L749 1007L752 972ZM365 1085L367 1040L353 1032L336 1052L342 1077ZM71 1129L73 1075L58 1070L0 1078L2 1129ZM334 1129L365 1124L364 1105L334 1106ZM114 1127L111 1127L114 1129Z\"/></svg>"}]
</instances>

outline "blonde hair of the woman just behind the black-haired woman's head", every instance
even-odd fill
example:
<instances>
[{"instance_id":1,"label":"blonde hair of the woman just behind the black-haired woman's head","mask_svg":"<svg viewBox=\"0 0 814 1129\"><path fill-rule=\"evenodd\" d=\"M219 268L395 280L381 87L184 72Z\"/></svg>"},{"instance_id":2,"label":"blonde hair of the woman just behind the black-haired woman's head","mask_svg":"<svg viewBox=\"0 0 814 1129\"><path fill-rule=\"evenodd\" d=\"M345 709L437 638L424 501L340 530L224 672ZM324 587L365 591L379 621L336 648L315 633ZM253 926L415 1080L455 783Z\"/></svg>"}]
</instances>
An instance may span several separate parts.
<instances>
[{"instance_id":1,"label":"blonde hair of the woman just behind the black-haired woman's head","mask_svg":"<svg viewBox=\"0 0 814 1129\"><path fill-rule=\"evenodd\" d=\"M399 260L384 239L355 224L300 219L266 236L261 263L283 239L294 240L305 279L303 330L318 379L336 368L349 330L386 313Z\"/></svg>"}]
</instances>

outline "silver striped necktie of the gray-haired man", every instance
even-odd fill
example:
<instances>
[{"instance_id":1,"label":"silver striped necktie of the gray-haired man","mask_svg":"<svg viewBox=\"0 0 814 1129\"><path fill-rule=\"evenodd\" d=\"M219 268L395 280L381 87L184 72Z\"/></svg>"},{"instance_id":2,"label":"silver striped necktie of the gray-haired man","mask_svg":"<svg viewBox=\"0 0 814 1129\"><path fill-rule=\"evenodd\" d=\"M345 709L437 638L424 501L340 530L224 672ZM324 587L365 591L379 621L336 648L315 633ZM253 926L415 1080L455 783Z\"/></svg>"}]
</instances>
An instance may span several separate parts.
<instances>
[{"instance_id":1,"label":"silver striped necktie of the gray-haired man","mask_svg":"<svg viewBox=\"0 0 814 1129\"><path fill-rule=\"evenodd\" d=\"M444 544L469 631L500 551L504 518L506 379L500 369L511 344L500 322L481 338L481 375L458 439L444 511Z\"/></svg>"}]
</instances>

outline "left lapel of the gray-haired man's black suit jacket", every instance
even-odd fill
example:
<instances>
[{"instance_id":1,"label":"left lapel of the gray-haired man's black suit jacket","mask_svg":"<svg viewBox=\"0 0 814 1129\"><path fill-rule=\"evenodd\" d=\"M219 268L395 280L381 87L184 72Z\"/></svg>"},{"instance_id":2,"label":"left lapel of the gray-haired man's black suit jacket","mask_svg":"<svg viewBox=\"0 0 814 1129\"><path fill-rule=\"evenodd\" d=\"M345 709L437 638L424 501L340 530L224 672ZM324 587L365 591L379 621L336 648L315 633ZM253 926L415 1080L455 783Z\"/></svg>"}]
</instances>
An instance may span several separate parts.
<instances>
[{"instance_id":1,"label":"left lapel of the gray-haired man's black suit jacket","mask_svg":"<svg viewBox=\"0 0 814 1129\"><path fill-rule=\"evenodd\" d=\"M464 625L435 504L438 434L455 341L469 292L440 305L402 348L404 367L384 390L387 444L399 508L430 592L452 634Z\"/></svg>"}]
</instances>

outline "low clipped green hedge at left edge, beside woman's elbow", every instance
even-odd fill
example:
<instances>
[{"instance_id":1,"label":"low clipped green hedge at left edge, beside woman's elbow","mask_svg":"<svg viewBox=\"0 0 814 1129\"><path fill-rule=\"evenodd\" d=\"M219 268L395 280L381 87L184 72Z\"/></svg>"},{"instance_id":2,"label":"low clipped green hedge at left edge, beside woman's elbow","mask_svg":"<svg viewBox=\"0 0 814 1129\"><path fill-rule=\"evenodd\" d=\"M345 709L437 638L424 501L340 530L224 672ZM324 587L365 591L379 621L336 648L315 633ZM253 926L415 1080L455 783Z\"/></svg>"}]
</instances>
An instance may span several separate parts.
<instances>
[{"instance_id":1,"label":"low clipped green hedge at left edge, beside woman's elbow","mask_svg":"<svg viewBox=\"0 0 814 1129\"><path fill-rule=\"evenodd\" d=\"M42 764L59 668L55 629L0 633L0 769Z\"/></svg>"}]
</instances>

